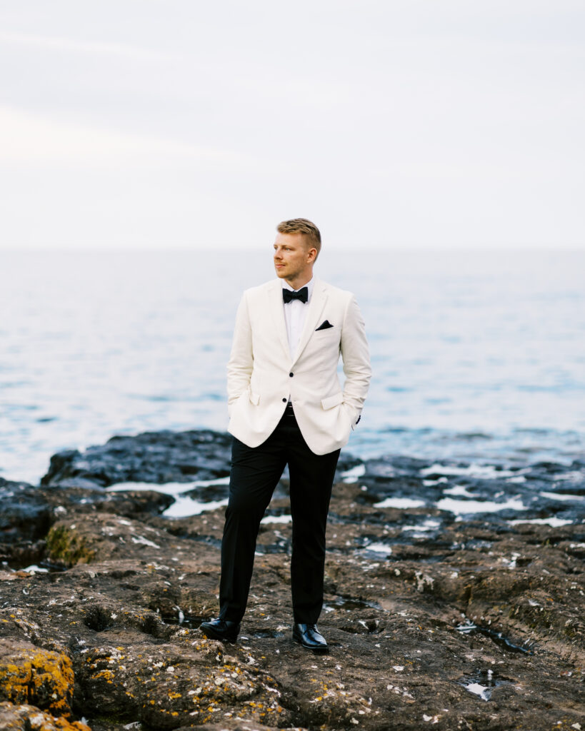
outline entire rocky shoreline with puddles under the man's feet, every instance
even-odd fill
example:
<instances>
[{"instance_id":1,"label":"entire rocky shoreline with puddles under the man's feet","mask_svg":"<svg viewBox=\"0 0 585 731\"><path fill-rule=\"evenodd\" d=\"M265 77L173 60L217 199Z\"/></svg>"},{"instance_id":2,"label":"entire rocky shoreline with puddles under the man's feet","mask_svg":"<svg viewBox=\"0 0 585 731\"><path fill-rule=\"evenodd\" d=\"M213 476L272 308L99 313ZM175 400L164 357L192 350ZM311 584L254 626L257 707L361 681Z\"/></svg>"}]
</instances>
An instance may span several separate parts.
<instances>
[{"instance_id":1,"label":"entire rocky shoreline with puddles under the man's feet","mask_svg":"<svg viewBox=\"0 0 585 731\"><path fill-rule=\"evenodd\" d=\"M0 478L0 730L585 730L585 460L343 455L314 656L291 640L286 479L238 643L197 629L229 451L115 436Z\"/></svg>"}]
</instances>

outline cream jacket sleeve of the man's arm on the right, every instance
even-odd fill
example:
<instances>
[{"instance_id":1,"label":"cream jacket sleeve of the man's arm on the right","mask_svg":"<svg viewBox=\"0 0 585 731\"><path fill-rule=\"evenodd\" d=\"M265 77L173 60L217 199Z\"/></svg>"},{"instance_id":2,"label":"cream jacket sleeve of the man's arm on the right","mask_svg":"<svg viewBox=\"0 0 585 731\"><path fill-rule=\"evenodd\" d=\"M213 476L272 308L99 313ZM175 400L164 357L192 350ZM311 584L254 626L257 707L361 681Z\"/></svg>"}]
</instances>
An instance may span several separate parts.
<instances>
[{"instance_id":1,"label":"cream jacket sleeve of the man's arm on the right","mask_svg":"<svg viewBox=\"0 0 585 731\"><path fill-rule=\"evenodd\" d=\"M341 357L345 374L343 403L350 409L353 428L359 420L363 402L366 401L371 379L366 324L354 295L345 310L341 330Z\"/></svg>"}]
</instances>

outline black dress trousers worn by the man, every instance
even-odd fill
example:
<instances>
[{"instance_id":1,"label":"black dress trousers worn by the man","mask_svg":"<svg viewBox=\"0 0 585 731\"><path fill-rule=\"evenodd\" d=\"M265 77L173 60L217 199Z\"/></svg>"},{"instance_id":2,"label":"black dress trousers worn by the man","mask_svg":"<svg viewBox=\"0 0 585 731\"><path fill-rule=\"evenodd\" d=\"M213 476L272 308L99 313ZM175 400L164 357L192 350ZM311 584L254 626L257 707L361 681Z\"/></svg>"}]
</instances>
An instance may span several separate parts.
<instances>
[{"instance_id":1,"label":"black dress trousers worn by the man","mask_svg":"<svg viewBox=\"0 0 585 731\"><path fill-rule=\"evenodd\" d=\"M293 618L316 624L323 604L325 528L340 451L316 455L309 450L290 407L260 447L248 447L233 438L230 499L222 539L220 618L239 622L244 616L260 520L288 464Z\"/></svg>"}]
</instances>

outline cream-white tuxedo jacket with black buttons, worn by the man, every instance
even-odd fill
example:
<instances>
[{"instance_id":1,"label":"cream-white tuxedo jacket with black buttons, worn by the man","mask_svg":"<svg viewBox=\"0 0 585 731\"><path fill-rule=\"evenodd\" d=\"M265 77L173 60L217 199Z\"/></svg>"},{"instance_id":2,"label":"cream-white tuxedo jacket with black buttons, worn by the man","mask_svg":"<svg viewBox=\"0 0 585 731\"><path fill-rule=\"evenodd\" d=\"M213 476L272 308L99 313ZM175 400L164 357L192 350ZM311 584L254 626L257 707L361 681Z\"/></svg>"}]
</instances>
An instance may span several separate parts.
<instances>
[{"instance_id":1,"label":"cream-white tuxedo jacket with black buttons, worn by the man","mask_svg":"<svg viewBox=\"0 0 585 731\"><path fill-rule=\"evenodd\" d=\"M246 289L241 299L227 364L227 431L249 447L268 439L289 394L303 438L317 455L344 447L359 420L371 368L358 303L351 292L315 278L305 306L305 325L291 359L282 282ZM333 327L318 329L325 321Z\"/></svg>"}]
</instances>

